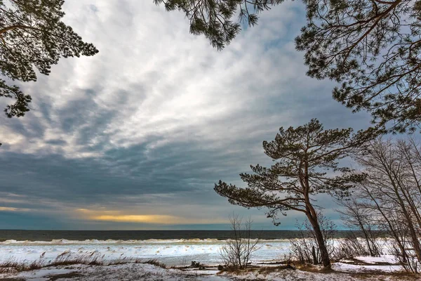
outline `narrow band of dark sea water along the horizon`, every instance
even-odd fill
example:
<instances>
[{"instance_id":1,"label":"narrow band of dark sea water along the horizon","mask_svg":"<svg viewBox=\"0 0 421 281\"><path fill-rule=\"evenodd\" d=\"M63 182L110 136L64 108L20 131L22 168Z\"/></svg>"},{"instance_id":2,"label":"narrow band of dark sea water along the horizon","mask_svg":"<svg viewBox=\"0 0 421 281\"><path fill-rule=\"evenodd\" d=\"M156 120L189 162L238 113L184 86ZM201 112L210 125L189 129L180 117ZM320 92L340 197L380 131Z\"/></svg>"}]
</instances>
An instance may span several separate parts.
<instances>
[{"instance_id":1,"label":"narrow band of dark sea water along the horizon","mask_svg":"<svg viewBox=\"0 0 421 281\"><path fill-rule=\"evenodd\" d=\"M338 231L335 237L346 237L349 231ZM0 230L0 242L65 240L148 240L148 239L218 239L229 238L229 230ZM252 232L253 238L263 240L298 237L297 230L260 230ZM358 235L359 236L359 235Z\"/></svg>"}]
</instances>

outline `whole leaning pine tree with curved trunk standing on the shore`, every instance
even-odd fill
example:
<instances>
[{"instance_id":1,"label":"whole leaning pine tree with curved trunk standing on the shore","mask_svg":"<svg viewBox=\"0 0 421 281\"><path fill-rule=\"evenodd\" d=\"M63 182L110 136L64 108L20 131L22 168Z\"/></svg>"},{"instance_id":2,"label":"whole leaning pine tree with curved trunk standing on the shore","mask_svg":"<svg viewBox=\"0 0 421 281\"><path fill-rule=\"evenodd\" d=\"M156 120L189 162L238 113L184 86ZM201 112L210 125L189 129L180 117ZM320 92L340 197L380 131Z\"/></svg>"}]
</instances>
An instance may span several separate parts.
<instances>
[{"instance_id":1,"label":"whole leaning pine tree with curved trunk standing on the shore","mask_svg":"<svg viewBox=\"0 0 421 281\"><path fill-rule=\"evenodd\" d=\"M258 164L250 166L254 174L240 174L246 188L219 181L215 191L231 204L266 208L267 217L276 225L279 214L286 215L290 210L304 213L314 229L323 266L329 267L314 195L349 195L349 188L363 181L364 175L340 166L338 161L375 135L373 129L355 134L352 129L323 130L317 119L297 128L281 128L274 141L263 142L265 154L275 162L272 166Z\"/></svg>"}]
</instances>

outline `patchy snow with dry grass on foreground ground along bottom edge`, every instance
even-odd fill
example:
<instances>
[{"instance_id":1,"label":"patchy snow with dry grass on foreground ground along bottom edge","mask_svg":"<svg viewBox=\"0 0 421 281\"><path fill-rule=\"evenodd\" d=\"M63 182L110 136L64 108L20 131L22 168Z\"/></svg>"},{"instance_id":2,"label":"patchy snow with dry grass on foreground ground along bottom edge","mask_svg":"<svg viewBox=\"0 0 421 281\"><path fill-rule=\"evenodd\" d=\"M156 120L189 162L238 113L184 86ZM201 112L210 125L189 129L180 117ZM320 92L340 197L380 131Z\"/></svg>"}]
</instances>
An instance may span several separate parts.
<instances>
[{"instance_id":1,"label":"patchy snow with dry grass on foreground ground along bottom edge","mask_svg":"<svg viewBox=\"0 0 421 281\"><path fill-rule=\"evenodd\" d=\"M66 268L43 268L32 272L13 275L14 278L22 278L28 281L50 280L194 280L194 281L225 281L225 280L274 280L274 281L357 281L357 280L399 280L392 275L364 275L358 277L349 273L318 273L302 270L252 270L243 273L218 273L212 274L201 271L182 271L165 269L149 264L124 264L118 266L66 266ZM60 276L61 275L61 276ZM0 276L1 277L1 276ZM68 279L66 279L66 277ZM402 279L405 280L405 279Z\"/></svg>"}]
</instances>

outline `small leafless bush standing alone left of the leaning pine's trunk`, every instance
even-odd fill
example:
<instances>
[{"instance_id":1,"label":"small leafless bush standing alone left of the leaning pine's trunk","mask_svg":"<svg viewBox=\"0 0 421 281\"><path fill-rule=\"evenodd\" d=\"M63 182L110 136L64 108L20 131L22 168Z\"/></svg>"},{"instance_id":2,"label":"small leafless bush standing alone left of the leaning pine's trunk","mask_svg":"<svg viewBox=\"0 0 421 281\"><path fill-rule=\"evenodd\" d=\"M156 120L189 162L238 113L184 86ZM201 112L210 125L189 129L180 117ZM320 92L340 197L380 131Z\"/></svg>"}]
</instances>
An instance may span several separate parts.
<instances>
[{"instance_id":1,"label":"small leafless bush standing alone left of the leaning pine's trunk","mask_svg":"<svg viewBox=\"0 0 421 281\"><path fill-rule=\"evenodd\" d=\"M252 237L252 223L250 218L242 220L237 214L229 216L232 237L220 249L220 256L225 266L231 268L247 268L252 254L258 250L259 238Z\"/></svg>"}]
</instances>

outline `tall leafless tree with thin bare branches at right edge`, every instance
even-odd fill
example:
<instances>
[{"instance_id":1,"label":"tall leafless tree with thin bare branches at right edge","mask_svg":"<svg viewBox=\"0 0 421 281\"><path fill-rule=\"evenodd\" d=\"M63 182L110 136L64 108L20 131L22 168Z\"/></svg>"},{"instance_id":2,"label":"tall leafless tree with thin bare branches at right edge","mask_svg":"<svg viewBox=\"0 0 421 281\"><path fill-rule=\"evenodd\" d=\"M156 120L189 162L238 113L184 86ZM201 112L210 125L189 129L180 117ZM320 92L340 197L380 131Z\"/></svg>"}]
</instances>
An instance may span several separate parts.
<instances>
[{"instance_id":1,"label":"tall leafless tree with thin bare branches at right edge","mask_svg":"<svg viewBox=\"0 0 421 281\"><path fill-rule=\"evenodd\" d=\"M361 186L366 209L373 210L373 218L394 238L396 256L413 272L418 270L409 262L413 257L421 261L420 151L413 139L379 138L356 157L367 174Z\"/></svg>"}]
</instances>

